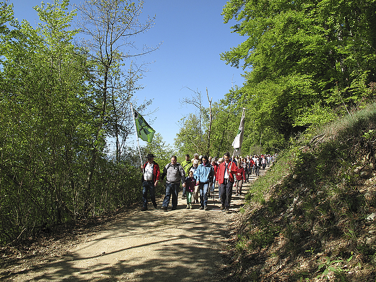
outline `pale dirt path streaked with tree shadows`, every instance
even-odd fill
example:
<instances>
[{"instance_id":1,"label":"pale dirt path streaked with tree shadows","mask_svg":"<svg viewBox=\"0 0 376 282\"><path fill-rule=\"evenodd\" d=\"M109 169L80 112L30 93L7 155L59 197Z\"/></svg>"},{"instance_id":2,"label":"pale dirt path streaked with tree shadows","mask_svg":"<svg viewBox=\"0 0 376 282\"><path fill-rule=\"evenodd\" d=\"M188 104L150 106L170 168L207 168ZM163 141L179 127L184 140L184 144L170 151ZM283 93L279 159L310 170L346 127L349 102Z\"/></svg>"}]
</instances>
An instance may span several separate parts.
<instances>
[{"instance_id":1,"label":"pale dirt path streaked with tree shadows","mask_svg":"<svg viewBox=\"0 0 376 282\"><path fill-rule=\"evenodd\" d=\"M251 182L254 179L250 177ZM244 193L248 186L243 186ZM198 204L186 210L186 200L179 198L175 211L149 207L145 212L138 209L122 214L102 230L64 243L60 251L48 250L39 259L20 258L16 264L2 266L0 280L221 281L221 251L226 248L244 194L233 194L229 214L219 209L217 189L215 195L215 203L209 199L207 211L199 210ZM162 199L157 203L160 207Z\"/></svg>"}]
</instances>

